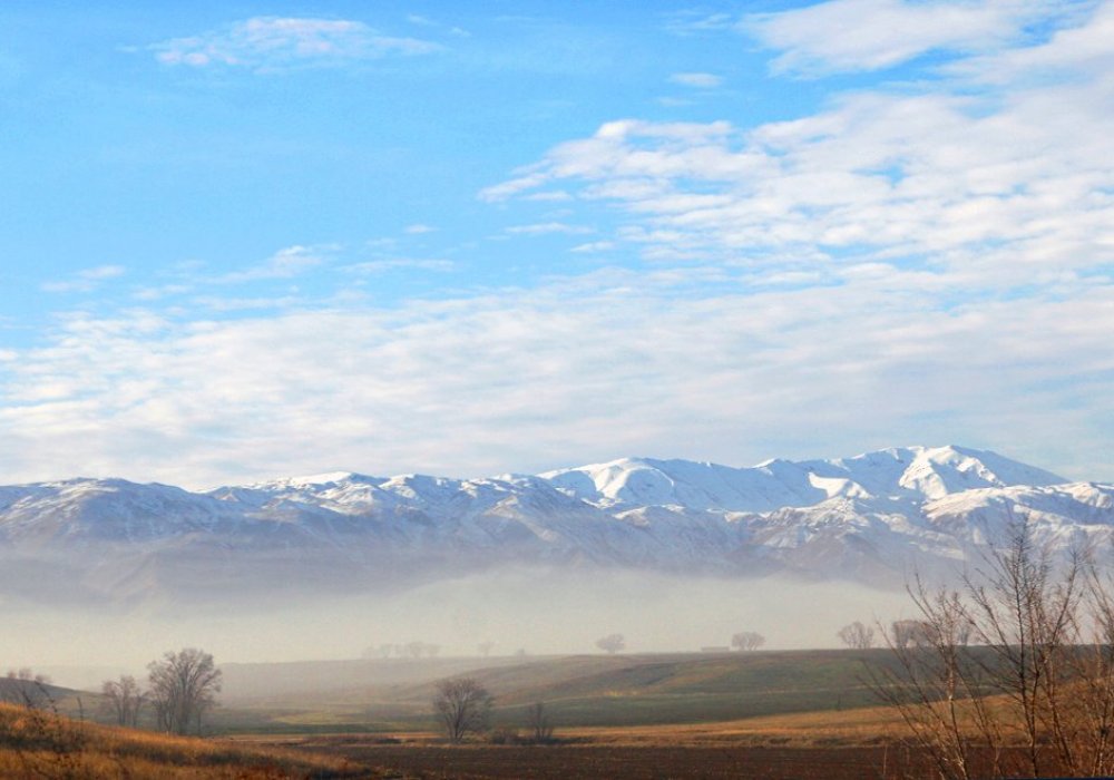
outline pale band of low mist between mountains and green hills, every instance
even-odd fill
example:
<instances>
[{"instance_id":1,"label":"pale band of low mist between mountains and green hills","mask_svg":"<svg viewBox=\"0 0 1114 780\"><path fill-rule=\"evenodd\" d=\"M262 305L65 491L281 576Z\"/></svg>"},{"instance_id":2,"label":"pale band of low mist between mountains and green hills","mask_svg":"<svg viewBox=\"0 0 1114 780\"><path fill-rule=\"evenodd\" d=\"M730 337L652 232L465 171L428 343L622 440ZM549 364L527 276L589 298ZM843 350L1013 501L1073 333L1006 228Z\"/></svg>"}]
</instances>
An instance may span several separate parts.
<instances>
[{"instance_id":1,"label":"pale band of low mist between mountains and green hills","mask_svg":"<svg viewBox=\"0 0 1114 780\"><path fill-rule=\"evenodd\" d=\"M511 568L401 593L266 606L234 593L219 604L128 614L9 602L0 605L0 659L49 667L59 684L79 685L87 674L76 667L138 673L183 646L202 647L218 663L358 659L369 649L399 654L411 642L426 653L436 645L439 656L598 653L596 640L614 633L625 637L624 652L727 646L742 631L762 634L766 650L831 647L851 621L909 612L906 594L852 583Z\"/></svg>"}]
</instances>

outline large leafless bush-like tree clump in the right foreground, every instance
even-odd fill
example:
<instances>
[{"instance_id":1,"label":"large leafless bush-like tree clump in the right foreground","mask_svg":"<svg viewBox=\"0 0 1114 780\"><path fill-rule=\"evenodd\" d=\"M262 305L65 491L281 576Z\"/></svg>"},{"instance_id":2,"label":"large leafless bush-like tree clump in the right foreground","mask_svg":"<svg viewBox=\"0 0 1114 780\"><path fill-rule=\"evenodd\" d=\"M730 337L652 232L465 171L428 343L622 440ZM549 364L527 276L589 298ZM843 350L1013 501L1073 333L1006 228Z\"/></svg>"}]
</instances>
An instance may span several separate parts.
<instances>
[{"instance_id":1,"label":"large leafless bush-like tree clump in the right foreground","mask_svg":"<svg viewBox=\"0 0 1114 780\"><path fill-rule=\"evenodd\" d=\"M959 589L909 591L921 627L888 637L899 671L874 688L941 778L1114 770L1114 610L1086 552L1012 518Z\"/></svg>"}]
</instances>

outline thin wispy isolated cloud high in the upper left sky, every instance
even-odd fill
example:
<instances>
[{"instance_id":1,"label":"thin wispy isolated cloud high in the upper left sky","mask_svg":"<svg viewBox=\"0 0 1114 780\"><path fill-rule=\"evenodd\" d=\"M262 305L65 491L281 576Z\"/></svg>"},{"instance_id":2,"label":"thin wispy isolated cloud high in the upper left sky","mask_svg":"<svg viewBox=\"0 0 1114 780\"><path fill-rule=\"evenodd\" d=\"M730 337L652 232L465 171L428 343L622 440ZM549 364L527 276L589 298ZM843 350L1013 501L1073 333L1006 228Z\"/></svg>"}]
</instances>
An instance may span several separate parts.
<instances>
[{"instance_id":1,"label":"thin wispy isolated cloud high in the upper left sky","mask_svg":"<svg viewBox=\"0 0 1114 780\"><path fill-rule=\"evenodd\" d=\"M417 38L384 36L360 21L255 17L149 48L165 65L245 67L263 71L389 55L424 55L440 46Z\"/></svg>"}]
</instances>

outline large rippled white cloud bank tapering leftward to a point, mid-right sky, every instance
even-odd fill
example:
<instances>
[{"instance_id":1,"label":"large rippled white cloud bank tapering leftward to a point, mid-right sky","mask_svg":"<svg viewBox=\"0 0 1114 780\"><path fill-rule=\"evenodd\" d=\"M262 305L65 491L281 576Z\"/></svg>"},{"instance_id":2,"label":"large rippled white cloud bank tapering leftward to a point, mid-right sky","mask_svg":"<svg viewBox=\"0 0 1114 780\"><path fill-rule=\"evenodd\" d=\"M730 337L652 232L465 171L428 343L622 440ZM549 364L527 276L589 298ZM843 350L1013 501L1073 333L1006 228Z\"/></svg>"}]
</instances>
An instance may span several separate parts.
<instances>
[{"instance_id":1,"label":"large rippled white cloud bank tapering leftward to a point, mid-right sky","mask_svg":"<svg viewBox=\"0 0 1114 780\"><path fill-rule=\"evenodd\" d=\"M487 193L559 186L614 204L620 237L657 259L903 257L1001 290L1018 284L1018 269L1114 260L1105 72L1045 82L1030 69L1006 96L965 84L861 91L750 129L613 121Z\"/></svg>"}]
</instances>

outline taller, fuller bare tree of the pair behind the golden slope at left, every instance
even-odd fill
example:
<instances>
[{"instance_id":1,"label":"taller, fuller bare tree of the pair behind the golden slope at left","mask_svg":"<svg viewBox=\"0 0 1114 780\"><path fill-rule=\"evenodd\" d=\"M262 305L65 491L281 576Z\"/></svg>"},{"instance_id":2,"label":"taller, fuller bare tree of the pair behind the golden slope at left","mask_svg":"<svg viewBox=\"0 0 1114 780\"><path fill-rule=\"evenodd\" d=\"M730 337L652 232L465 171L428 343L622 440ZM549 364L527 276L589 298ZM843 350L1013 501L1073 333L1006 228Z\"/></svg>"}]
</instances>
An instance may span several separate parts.
<instances>
[{"instance_id":1,"label":"taller, fuller bare tree of the pair behind the golden slope at left","mask_svg":"<svg viewBox=\"0 0 1114 780\"><path fill-rule=\"evenodd\" d=\"M213 656L195 647L168 651L162 661L152 661L147 671L158 728L177 734L190 729L201 733L202 718L221 691L221 670Z\"/></svg>"}]
</instances>

